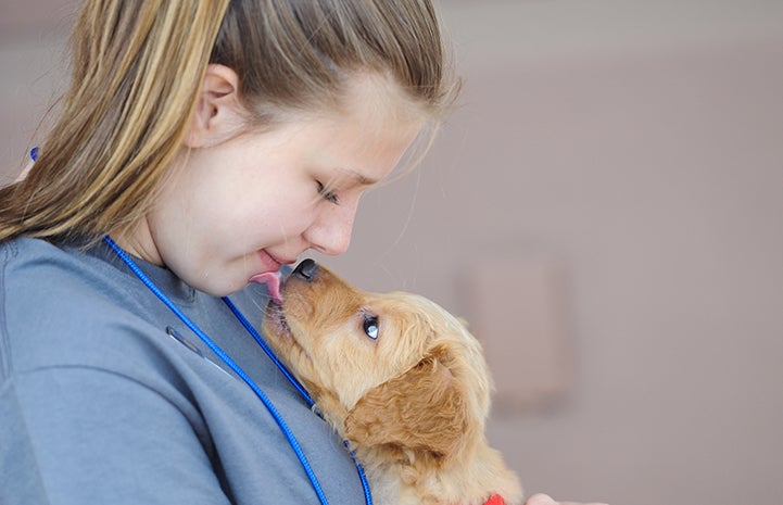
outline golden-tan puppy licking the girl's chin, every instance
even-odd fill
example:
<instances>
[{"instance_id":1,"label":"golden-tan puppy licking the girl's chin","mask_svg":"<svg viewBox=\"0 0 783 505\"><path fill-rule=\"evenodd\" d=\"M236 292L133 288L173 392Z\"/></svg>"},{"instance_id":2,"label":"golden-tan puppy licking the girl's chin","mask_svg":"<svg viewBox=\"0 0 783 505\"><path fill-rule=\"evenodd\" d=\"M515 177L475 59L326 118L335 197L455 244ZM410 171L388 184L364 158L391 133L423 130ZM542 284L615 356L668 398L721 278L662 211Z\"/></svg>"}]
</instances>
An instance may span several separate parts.
<instances>
[{"instance_id":1,"label":"golden-tan puppy licking the girl's chin","mask_svg":"<svg viewBox=\"0 0 783 505\"><path fill-rule=\"evenodd\" d=\"M484 422L481 345L435 303L361 291L303 261L269 304L269 345L362 463L378 505L519 504Z\"/></svg>"}]
</instances>

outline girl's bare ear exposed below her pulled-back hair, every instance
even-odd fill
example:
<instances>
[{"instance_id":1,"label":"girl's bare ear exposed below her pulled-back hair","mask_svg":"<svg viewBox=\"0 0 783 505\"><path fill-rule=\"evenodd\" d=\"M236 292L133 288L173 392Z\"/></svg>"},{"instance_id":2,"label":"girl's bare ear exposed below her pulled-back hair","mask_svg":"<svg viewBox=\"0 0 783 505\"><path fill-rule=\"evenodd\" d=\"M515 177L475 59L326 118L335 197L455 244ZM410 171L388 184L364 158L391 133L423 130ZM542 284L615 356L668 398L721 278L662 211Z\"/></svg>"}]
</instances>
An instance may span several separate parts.
<instances>
[{"instance_id":1,"label":"girl's bare ear exposed below her pulled-back hair","mask_svg":"<svg viewBox=\"0 0 783 505\"><path fill-rule=\"evenodd\" d=\"M228 140L241 129L243 112L239 102L239 76L227 66L211 63L206 66L185 146L209 148Z\"/></svg>"}]
</instances>

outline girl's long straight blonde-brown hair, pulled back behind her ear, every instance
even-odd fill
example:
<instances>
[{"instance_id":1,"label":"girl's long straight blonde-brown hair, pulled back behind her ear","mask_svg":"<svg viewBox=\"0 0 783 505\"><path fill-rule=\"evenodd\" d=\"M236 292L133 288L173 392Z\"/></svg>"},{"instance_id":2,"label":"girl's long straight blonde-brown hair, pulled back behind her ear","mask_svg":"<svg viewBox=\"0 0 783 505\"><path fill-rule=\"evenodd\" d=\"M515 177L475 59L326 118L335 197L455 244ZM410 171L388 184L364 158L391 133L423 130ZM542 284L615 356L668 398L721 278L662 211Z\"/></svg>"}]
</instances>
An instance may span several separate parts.
<instances>
[{"instance_id":1,"label":"girl's long straight blonde-brown hair, pulled back behind her ear","mask_svg":"<svg viewBox=\"0 0 783 505\"><path fill-rule=\"evenodd\" d=\"M0 240L92 242L151 209L209 63L232 68L250 125L338 104L357 71L439 121L454 100L429 0L88 0L61 116L27 177L0 189Z\"/></svg>"}]
</instances>

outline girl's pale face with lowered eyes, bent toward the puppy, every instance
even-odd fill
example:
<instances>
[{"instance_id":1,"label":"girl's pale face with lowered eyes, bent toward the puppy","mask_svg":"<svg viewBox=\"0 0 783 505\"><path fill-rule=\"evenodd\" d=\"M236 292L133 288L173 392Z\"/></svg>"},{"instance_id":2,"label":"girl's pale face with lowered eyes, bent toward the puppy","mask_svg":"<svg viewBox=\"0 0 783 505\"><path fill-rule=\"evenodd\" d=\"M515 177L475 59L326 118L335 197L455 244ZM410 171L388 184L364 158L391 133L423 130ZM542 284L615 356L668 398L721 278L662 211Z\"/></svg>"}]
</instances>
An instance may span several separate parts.
<instances>
[{"instance_id":1,"label":"girl's pale face with lowered eyes, bent toward the puppy","mask_svg":"<svg viewBox=\"0 0 783 505\"><path fill-rule=\"evenodd\" d=\"M422 126L400 112L411 105L390 99L388 88L359 79L341 112L218 135L184 151L153 211L121 244L214 295L308 249L343 253L359 197L389 175ZM212 119L222 113L225 119L214 108Z\"/></svg>"}]
</instances>

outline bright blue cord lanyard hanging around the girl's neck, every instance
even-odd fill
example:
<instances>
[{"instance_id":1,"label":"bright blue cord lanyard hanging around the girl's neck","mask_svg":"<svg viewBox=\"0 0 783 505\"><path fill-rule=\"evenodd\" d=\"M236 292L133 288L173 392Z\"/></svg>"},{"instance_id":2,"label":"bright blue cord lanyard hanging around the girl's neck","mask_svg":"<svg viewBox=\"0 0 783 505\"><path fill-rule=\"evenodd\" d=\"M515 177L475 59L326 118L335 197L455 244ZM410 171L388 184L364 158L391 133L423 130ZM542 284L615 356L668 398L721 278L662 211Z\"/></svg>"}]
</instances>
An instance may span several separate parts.
<instances>
[{"instance_id":1,"label":"bright blue cord lanyard hanging around the girl's neck","mask_svg":"<svg viewBox=\"0 0 783 505\"><path fill-rule=\"evenodd\" d=\"M296 454L296 457L299 458L299 462L302 464L302 468L304 468L305 474L307 475L307 478L310 479L311 483L313 484L313 489L315 490L315 494L318 495L318 501L321 503L321 505L329 505L329 502L326 500L326 495L324 494L324 490L321 489L320 483L318 482L318 478L315 476L315 472L313 471L313 468L310 465L310 462L307 460L307 457L305 456L304 452L302 451L302 446L299 444L299 441L296 441L296 438L293 434L293 431L288 427L286 424L286 420L282 418L282 415L280 415L279 411L275 405L271 403L271 400L262 391L261 388L253 381L253 379L248 376L248 374L242 370L242 368L239 367L239 365L229 356L226 354L225 351L223 351L206 333L204 333L201 328L199 328L190 318L185 315L185 313L172 302L172 300L166 296L163 291L161 291L157 286L150 279L147 274L144 274L141 268L134 262L134 260L109 237L103 237L103 241L114 251L114 253L119 257L123 263L125 263L130 270L136 274L136 277L141 280L141 282L149 288L150 291L152 291L155 296L157 296L179 319L185 323L185 325L190 328L193 333L195 333L199 339L201 339L204 344L210 348L210 350L215 353L217 357L219 357L223 363L225 363L231 370L233 370L235 374L237 374L249 387L253 390L256 396L258 396L258 400L266 406L266 409L269 411L269 414L271 414L271 417L277 422L277 426L280 428L282 433L286 435L286 439L288 440L289 445L293 450L293 452ZM239 312L239 308L231 302L228 296L224 296L223 301L228 305L228 307L233 313L235 317L239 319L239 321L244 326L244 328L248 330L248 332L253 336L253 339L261 345L261 348L264 350L264 352L269 356L269 358L273 361L273 363L280 369L280 371L286 376L286 378L293 384L294 388L302 394L305 402L313 407L315 403L313 402L313 399L310 396L307 391L304 389L304 387L286 369L286 367L280 363L278 357L275 355L275 353L269 349L267 343L264 341L264 339L261 337L258 331L253 327L253 325L248 321L248 319L244 317L244 315ZM348 447L348 442L343 442L345 446ZM362 468L362 465L356 460L356 457L353 453L351 453L351 456L354 458L354 463L356 464L356 470L358 471L359 480L362 481L362 488L364 490L364 496L365 496L365 503L367 505L372 505L372 495L370 494L369 490L369 483L367 482L367 478L364 474L364 469Z\"/></svg>"}]
</instances>

